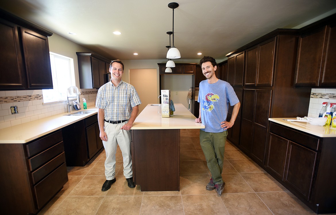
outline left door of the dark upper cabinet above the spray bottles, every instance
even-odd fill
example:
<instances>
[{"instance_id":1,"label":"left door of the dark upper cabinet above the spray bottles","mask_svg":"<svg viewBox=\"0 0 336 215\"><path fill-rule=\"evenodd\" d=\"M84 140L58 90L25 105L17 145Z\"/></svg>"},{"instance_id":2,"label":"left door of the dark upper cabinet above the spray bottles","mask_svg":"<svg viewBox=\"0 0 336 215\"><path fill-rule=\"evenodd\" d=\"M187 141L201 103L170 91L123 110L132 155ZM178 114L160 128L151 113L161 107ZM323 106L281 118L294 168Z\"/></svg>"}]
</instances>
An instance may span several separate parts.
<instances>
[{"instance_id":1,"label":"left door of the dark upper cabinet above the spray bottles","mask_svg":"<svg viewBox=\"0 0 336 215\"><path fill-rule=\"evenodd\" d=\"M326 26L299 37L294 83L296 86L318 86Z\"/></svg>"}]
</instances>

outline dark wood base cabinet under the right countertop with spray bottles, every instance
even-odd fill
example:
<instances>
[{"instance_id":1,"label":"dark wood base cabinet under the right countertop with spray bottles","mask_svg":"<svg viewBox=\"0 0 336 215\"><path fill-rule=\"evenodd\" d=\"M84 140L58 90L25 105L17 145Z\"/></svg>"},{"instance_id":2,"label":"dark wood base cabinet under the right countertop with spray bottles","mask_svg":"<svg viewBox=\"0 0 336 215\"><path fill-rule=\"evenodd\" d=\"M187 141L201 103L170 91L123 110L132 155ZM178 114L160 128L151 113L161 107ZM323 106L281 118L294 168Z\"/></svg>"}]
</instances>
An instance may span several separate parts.
<instances>
[{"instance_id":1,"label":"dark wood base cabinet under the right countertop with spray bottles","mask_svg":"<svg viewBox=\"0 0 336 215\"><path fill-rule=\"evenodd\" d=\"M335 142L269 122L265 170L315 213L335 213Z\"/></svg>"}]
</instances>

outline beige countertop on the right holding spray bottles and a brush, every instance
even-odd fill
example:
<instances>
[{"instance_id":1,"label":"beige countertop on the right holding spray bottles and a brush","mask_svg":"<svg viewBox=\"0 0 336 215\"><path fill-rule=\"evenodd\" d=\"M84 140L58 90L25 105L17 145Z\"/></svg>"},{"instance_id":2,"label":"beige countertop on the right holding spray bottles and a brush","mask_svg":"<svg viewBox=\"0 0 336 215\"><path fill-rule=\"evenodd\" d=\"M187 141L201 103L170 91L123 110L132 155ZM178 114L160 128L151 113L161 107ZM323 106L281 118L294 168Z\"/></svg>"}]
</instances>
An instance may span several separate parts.
<instances>
[{"instance_id":1,"label":"beige countertop on the right holding spray bottles and a brush","mask_svg":"<svg viewBox=\"0 0 336 215\"><path fill-rule=\"evenodd\" d=\"M312 134L318 137L336 137L336 128L332 126L313 126L309 122L291 122L284 119L296 119L296 118L268 118L269 121L282 124L299 131Z\"/></svg>"}]
</instances>

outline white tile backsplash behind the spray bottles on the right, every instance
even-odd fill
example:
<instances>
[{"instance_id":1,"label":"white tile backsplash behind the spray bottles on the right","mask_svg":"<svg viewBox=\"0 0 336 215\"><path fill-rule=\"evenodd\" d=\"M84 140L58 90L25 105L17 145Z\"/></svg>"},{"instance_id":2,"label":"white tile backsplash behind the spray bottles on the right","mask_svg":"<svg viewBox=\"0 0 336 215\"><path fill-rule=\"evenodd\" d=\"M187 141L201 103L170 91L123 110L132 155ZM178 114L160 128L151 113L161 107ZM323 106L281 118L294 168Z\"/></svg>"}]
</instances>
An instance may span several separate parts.
<instances>
[{"instance_id":1,"label":"white tile backsplash behind the spray bottles on the right","mask_svg":"<svg viewBox=\"0 0 336 215\"><path fill-rule=\"evenodd\" d=\"M319 117L323 102L336 103L336 89L311 89L308 116Z\"/></svg>"}]
</instances>

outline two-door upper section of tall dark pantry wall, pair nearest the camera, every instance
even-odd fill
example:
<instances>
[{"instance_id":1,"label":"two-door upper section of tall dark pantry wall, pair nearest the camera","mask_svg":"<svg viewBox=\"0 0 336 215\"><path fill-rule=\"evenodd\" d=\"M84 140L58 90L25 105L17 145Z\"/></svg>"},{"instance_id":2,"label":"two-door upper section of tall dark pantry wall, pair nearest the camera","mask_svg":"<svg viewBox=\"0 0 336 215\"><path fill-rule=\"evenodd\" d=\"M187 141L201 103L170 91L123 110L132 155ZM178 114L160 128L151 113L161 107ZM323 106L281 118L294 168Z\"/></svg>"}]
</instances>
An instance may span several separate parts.
<instances>
[{"instance_id":1,"label":"two-door upper section of tall dark pantry wall, pair nearest the camera","mask_svg":"<svg viewBox=\"0 0 336 215\"><path fill-rule=\"evenodd\" d=\"M276 38L246 50L245 86L272 86Z\"/></svg>"}]
</instances>

